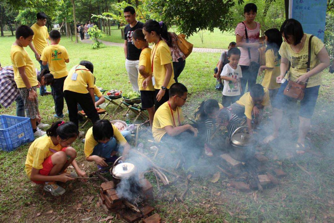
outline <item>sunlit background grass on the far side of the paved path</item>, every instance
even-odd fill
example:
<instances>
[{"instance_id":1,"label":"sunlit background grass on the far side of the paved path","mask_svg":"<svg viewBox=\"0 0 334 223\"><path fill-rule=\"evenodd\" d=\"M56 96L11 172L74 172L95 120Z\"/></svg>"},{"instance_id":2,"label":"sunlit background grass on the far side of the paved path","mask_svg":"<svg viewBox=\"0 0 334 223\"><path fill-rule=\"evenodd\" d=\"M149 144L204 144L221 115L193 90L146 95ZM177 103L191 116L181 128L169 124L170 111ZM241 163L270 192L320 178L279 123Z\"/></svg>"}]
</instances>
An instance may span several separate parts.
<instances>
[{"instance_id":1,"label":"sunlit background grass on the far side of the paved path","mask_svg":"<svg viewBox=\"0 0 334 223\"><path fill-rule=\"evenodd\" d=\"M111 26L110 30L111 35L107 35L102 38L102 40L124 43L124 39L121 37L121 30L118 29L117 26ZM176 32L176 26L172 26L169 31ZM213 32L207 30L203 31L203 43L199 33L194 33L192 36L189 36L189 39L187 40L194 44L194 47L198 48L227 49L230 42L235 42L235 35L230 32L222 33L218 28L215 28Z\"/></svg>"}]
</instances>

